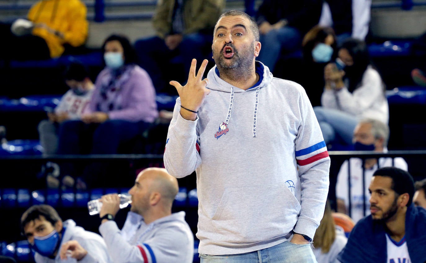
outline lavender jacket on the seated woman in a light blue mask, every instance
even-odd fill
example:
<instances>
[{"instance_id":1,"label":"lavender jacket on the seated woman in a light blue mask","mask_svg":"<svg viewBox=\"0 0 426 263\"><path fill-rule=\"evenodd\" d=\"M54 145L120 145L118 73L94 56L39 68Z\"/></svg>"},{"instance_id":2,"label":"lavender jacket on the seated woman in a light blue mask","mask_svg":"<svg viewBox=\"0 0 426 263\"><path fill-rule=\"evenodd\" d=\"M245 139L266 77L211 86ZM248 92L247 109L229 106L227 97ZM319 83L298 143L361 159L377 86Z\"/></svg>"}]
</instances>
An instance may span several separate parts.
<instances>
[{"instance_id":1,"label":"lavender jacket on the seated woman in a light blue mask","mask_svg":"<svg viewBox=\"0 0 426 263\"><path fill-rule=\"evenodd\" d=\"M137 65L127 66L120 78L116 81L118 87L112 99L104 99L102 87L105 87L113 78L112 70L103 69L95 82L92 100L84 113L103 111L108 113L111 120L145 121L152 123L158 117L155 89L148 73ZM111 110L108 109L111 106Z\"/></svg>"}]
</instances>

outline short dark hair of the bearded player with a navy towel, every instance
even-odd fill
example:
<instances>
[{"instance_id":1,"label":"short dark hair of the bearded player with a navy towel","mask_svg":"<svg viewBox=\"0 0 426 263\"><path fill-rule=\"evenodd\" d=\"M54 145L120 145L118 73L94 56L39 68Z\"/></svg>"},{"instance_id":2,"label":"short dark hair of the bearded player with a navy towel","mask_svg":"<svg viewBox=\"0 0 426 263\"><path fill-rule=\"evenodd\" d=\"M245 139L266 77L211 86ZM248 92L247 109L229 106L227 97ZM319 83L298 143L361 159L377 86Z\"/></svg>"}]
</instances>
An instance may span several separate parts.
<instances>
[{"instance_id":1,"label":"short dark hair of the bearded player with a navy towel","mask_svg":"<svg viewBox=\"0 0 426 263\"><path fill-rule=\"evenodd\" d=\"M391 189L398 195L408 193L409 200L407 206L410 206L414 195L414 179L411 174L396 167L383 167L377 169L373 176L385 176L392 179Z\"/></svg>"}]
</instances>

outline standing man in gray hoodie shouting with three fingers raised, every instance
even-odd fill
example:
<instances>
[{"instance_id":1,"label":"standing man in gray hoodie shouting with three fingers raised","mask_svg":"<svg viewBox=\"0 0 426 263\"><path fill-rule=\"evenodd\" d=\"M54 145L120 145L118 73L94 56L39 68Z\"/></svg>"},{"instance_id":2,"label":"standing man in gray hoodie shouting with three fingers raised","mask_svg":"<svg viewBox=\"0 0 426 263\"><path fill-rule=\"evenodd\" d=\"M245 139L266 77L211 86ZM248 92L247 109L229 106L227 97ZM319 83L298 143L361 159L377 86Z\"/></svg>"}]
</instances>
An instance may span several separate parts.
<instances>
[{"instance_id":1,"label":"standing man in gray hoodie shouting with three fingers raised","mask_svg":"<svg viewBox=\"0 0 426 263\"><path fill-rule=\"evenodd\" d=\"M256 22L219 18L207 60L179 93L164 165L196 171L201 262L316 262L309 246L328 194L328 157L305 90L255 61ZM261 259L261 260L260 260Z\"/></svg>"}]
</instances>

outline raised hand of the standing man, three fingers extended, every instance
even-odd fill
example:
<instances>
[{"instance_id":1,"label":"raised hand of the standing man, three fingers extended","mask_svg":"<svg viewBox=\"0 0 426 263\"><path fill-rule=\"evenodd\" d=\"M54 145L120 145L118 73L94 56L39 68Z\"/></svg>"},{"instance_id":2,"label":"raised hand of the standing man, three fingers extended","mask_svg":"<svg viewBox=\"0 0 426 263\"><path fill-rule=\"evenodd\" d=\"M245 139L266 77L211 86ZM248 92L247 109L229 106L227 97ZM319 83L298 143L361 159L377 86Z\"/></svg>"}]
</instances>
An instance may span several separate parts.
<instances>
[{"instance_id":1,"label":"raised hand of the standing man, three fingers extended","mask_svg":"<svg viewBox=\"0 0 426 263\"><path fill-rule=\"evenodd\" d=\"M179 97L181 98L182 107L196 112L203 104L206 95L210 93L210 90L206 88L208 79L202 79L207 63L207 59L204 59L200 69L198 70L198 73L196 74L197 60L193 59L191 62L191 68L189 70L187 84L183 87L177 81L170 81L170 85L174 86L178 91ZM195 121L197 114L189 110L181 108L180 113L182 118L189 121Z\"/></svg>"}]
</instances>

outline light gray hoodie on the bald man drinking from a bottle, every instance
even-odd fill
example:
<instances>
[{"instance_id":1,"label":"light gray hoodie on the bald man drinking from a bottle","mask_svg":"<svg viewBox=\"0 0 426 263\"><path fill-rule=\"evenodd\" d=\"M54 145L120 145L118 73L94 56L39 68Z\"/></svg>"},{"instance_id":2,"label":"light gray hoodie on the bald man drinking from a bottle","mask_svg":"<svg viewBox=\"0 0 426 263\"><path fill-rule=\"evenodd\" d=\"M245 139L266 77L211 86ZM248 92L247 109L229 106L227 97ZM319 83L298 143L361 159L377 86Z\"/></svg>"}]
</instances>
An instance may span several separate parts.
<instances>
[{"instance_id":1,"label":"light gray hoodie on the bald man drinking from a bottle","mask_svg":"<svg viewBox=\"0 0 426 263\"><path fill-rule=\"evenodd\" d=\"M129 216L129 215L128 215ZM114 263L192 263L194 257L194 236L185 222L185 212L161 217L150 224L143 218L130 215L129 223L137 224L133 234L126 240L117 224L110 220L101 224L99 232L107 243ZM131 222L132 221L132 222Z\"/></svg>"}]
</instances>

